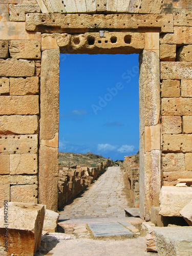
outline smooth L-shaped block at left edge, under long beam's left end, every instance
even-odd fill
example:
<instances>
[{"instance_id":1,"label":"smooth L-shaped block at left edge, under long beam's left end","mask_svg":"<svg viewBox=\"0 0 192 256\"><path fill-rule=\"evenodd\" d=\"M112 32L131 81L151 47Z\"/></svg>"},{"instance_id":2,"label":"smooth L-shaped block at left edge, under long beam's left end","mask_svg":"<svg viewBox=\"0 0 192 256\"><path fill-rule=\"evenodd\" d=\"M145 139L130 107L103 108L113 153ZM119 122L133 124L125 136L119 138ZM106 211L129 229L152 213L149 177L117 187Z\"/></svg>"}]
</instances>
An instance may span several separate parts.
<instances>
[{"instance_id":1,"label":"smooth L-shaped block at left edge, under long beam's left end","mask_svg":"<svg viewBox=\"0 0 192 256\"><path fill-rule=\"evenodd\" d=\"M1 39L6 40L40 40L39 32L29 33L25 29L25 22L1 22Z\"/></svg>"}]
</instances>

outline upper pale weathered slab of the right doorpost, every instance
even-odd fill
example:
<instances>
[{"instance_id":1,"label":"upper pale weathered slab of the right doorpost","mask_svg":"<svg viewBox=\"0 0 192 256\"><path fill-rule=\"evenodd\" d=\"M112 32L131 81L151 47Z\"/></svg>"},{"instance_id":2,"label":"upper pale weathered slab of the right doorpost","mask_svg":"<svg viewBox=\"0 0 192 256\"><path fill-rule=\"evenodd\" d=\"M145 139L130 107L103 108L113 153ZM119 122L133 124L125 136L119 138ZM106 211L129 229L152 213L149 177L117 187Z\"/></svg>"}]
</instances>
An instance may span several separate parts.
<instances>
[{"instance_id":1,"label":"upper pale weathered slab of the right doorpost","mask_svg":"<svg viewBox=\"0 0 192 256\"><path fill-rule=\"evenodd\" d=\"M144 126L157 125L160 116L159 58L156 53L143 51L139 56L140 134Z\"/></svg>"}]
</instances>

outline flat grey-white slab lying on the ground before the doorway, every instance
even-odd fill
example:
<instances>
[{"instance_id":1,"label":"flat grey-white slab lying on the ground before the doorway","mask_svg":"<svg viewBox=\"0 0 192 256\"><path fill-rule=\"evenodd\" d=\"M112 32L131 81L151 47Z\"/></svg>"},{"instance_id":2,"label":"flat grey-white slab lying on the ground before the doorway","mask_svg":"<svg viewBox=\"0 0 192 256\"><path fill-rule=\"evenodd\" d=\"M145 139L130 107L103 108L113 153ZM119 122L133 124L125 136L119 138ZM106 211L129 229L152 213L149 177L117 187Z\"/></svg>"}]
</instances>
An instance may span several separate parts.
<instances>
[{"instance_id":1,"label":"flat grey-white slab lying on the ground before the doorway","mask_svg":"<svg viewBox=\"0 0 192 256\"><path fill-rule=\"evenodd\" d=\"M88 226L93 232L94 238L114 236L133 237L133 233L129 229L123 227L117 222L92 223L88 224Z\"/></svg>"}]
</instances>

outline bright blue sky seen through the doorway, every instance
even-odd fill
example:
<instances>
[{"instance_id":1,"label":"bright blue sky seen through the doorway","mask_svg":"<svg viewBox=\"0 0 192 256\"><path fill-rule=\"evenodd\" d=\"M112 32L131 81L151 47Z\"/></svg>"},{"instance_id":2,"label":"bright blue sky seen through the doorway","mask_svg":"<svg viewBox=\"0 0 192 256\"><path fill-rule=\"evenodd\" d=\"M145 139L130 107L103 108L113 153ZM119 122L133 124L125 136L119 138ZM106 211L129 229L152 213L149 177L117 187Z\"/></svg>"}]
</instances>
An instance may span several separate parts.
<instances>
[{"instance_id":1,"label":"bright blue sky seen through the doorway","mask_svg":"<svg viewBox=\"0 0 192 256\"><path fill-rule=\"evenodd\" d=\"M60 54L59 151L115 160L139 150L138 54Z\"/></svg>"}]
</instances>

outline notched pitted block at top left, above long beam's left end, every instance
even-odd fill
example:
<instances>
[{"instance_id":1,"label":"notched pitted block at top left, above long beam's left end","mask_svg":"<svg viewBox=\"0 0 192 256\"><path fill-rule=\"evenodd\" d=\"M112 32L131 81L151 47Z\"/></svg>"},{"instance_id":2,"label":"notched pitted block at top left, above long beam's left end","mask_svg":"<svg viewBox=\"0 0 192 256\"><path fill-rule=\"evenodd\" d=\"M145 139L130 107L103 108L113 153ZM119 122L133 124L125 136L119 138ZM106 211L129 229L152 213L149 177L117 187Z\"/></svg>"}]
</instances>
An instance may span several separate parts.
<instances>
[{"instance_id":1,"label":"notched pitted block at top left, above long beam's left end","mask_svg":"<svg viewBox=\"0 0 192 256\"><path fill-rule=\"evenodd\" d=\"M9 21L25 22L25 14L30 12L40 12L37 4L17 4L9 5Z\"/></svg>"}]
</instances>

